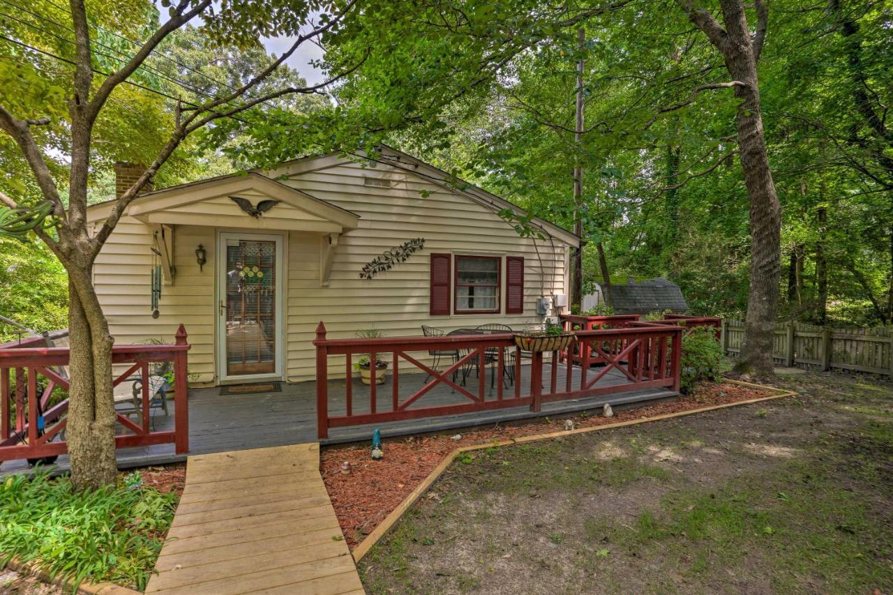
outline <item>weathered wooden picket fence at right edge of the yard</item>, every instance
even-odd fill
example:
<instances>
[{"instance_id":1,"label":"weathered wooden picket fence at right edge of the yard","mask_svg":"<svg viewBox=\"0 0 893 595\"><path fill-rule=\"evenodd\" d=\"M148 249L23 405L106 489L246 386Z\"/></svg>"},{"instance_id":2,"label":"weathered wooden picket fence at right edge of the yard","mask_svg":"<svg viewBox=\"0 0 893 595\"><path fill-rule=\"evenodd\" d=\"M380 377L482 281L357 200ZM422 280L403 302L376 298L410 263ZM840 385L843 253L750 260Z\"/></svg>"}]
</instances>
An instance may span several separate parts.
<instances>
[{"instance_id":1,"label":"weathered wooden picket fence at right edge of the yard","mask_svg":"<svg viewBox=\"0 0 893 595\"><path fill-rule=\"evenodd\" d=\"M722 347L738 356L744 323L722 321ZM855 370L893 376L893 329L832 329L806 323L779 323L772 340L776 364L810 370Z\"/></svg>"}]
</instances>

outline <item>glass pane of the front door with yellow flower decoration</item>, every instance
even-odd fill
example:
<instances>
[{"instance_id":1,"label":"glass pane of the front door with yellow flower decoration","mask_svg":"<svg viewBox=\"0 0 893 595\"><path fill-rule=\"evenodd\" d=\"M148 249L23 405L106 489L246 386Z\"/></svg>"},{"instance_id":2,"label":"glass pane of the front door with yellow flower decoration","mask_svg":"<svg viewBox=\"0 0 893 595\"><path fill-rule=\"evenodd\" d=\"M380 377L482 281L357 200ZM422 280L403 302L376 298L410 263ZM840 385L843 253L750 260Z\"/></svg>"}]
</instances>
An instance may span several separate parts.
<instances>
[{"instance_id":1,"label":"glass pane of the front door with yellow flower decoration","mask_svg":"<svg viewBox=\"0 0 893 595\"><path fill-rule=\"evenodd\" d=\"M226 375L276 372L276 241L226 239Z\"/></svg>"}]
</instances>

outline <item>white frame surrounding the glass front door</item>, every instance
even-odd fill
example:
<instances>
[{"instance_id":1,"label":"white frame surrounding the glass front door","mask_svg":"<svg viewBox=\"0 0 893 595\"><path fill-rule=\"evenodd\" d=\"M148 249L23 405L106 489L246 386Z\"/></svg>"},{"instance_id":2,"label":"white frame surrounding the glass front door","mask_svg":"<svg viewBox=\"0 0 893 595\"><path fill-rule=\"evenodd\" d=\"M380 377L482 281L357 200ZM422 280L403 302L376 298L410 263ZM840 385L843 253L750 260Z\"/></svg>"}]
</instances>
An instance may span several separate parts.
<instances>
[{"instance_id":1,"label":"white frame surrounding the glass front door","mask_svg":"<svg viewBox=\"0 0 893 595\"><path fill-rule=\"evenodd\" d=\"M221 301L226 297L226 241L227 239L256 239L263 241L276 242L276 337L275 349L276 370L273 373L264 374L238 374L228 376L226 373L226 311L221 308ZM250 381L250 380L281 380L284 373L285 362L285 234L284 233L252 233L241 231L218 231L217 232L217 266L215 267L216 275L215 289L216 301L214 302L214 313L217 317L215 325L217 329L217 338L214 348L217 351L217 379L223 383L233 381Z\"/></svg>"}]
</instances>

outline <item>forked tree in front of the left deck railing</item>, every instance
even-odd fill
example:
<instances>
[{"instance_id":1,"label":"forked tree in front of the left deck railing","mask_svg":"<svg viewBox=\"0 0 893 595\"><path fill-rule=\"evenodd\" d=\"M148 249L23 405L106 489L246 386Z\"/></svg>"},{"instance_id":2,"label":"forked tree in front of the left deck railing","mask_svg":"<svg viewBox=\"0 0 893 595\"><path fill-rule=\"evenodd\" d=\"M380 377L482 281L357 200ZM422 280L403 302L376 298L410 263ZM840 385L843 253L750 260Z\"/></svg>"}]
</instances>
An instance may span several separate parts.
<instances>
[{"instance_id":1,"label":"forked tree in front of the left deck railing","mask_svg":"<svg viewBox=\"0 0 893 595\"><path fill-rule=\"evenodd\" d=\"M71 64L71 69L50 80L37 61L17 66L24 69L29 80L43 83L53 93L46 93L41 97L42 102L31 104L4 93L4 104L0 105L0 130L13 140L27 163L39 189L39 201L32 202L27 192L19 197L0 193L0 200L14 213L30 216L34 223L32 230L68 272L71 387L67 438L72 479L81 488L114 482L117 469L113 337L96 297L91 271L125 209L189 135L212 122L247 113L264 102L318 92L359 65L355 63L346 71L332 74L320 85L263 88L264 81L300 46L321 36L336 34L355 13L355 0L297 6L288 1L213 5L212 0L179 0L173 4L163 0L162 4L167 9L168 20L147 31L146 41L138 44L133 54L114 61L114 68L101 69L97 60L98 38L105 29L96 25L96 10L88 10L84 0L71 0L67 12L54 14L59 30L70 33L55 37L66 42L65 49L71 58L63 56L63 60ZM138 5L144 11L150 10L146 4ZM313 20L313 12L322 13L318 22ZM177 102L172 118L165 122L166 139L161 147L147 160L148 165L138 180L113 204L109 217L91 233L87 224L91 160L96 152L97 133L104 130L104 117L110 112L109 105L116 93L138 79L141 69L146 69L146 61L163 41L193 19L204 21L204 35L221 45L256 46L258 38L276 35L292 36L294 42L284 54L260 71L250 73L245 80L208 94L200 102L189 105ZM29 38L25 35L22 38L15 42L34 52ZM6 68L4 63L0 76L4 80L12 79L12 73ZM63 83L66 77L67 84ZM64 139L66 164L54 158L48 139L56 138ZM63 196L60 187L64 186L59 184L54 171L64 172L67 196Z\"/></svg>"}]
</instances>

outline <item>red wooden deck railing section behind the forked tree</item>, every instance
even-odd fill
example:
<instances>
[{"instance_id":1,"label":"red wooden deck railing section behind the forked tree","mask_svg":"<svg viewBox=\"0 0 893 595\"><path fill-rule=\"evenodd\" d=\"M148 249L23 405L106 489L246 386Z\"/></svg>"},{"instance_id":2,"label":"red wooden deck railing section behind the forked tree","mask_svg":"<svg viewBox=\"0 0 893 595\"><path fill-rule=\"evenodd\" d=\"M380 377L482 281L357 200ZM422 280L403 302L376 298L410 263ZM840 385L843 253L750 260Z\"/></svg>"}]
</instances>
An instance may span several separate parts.
<instances>
[{"instance_id":1,"label":"red wooden deck railing section behind the forked tree","mask_svg":"<svg viewBox=\"0 0 893 595\"><path fill-rule=\"evenodd\" d=\"M68 390L69 382L60 373L69 363L67 347L34 347L43 338L22 339L19 343L0 346L0 461L62 455L68 451L63 440L54 440L68 423L68 399L50 406L57 389ZM12 346L12 347L11 347ZM173 442L178 453L189 450L187 406L187 342L181 324L173 345L119 345L112 348L112 361L128 365L126 372L113 380L113 385L132 381L138 373L142 381L141 422L134 423L117 414L116 421L128 433L115 436L116 448L149 446ZM174 429L154 432L151 429L149 405L149 365L171 362L174 373ZM41 380L42 379L42 380ZM43 386L42 390L38 390ZM14 407L14 419L13 419ZM49 407L49 408L47 408ZM43 411L43 415L38 412ZM42 418L42 419L41 419Z\"/></svg>"}]
</instances>

